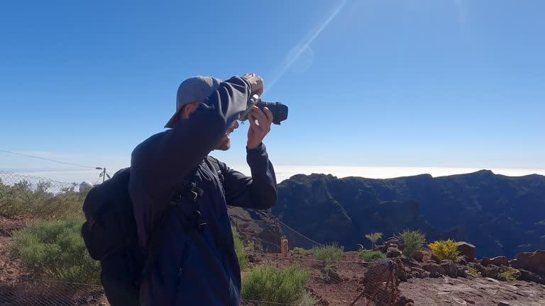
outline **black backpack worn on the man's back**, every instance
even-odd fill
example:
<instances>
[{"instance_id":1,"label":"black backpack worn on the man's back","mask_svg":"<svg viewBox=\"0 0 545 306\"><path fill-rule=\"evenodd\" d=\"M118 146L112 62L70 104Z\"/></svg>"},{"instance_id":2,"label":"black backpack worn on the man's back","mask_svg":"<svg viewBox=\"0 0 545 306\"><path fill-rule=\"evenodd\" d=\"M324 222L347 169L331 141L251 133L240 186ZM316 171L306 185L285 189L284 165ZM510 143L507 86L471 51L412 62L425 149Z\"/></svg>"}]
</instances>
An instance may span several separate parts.
<instances>
[{"instance_id":1,"label":"black backpack worn on the man's back","mask_svg":"<svg viewBox=\"0 0 545 306\"><path fill-rule=\"evenodd\" d=\"M207 159L223 184L218 160ZM146 251L138 245L133 204L128 195L129 174L129 168L117 171L108 181L94 186L83 204L86 222L82 225L82 237L89 256L101 263L101 283L111 306L140 305L141 277L148 268ZM194 184L187 186L186 192L202 196Z\"/></svg>"}]
</instances>

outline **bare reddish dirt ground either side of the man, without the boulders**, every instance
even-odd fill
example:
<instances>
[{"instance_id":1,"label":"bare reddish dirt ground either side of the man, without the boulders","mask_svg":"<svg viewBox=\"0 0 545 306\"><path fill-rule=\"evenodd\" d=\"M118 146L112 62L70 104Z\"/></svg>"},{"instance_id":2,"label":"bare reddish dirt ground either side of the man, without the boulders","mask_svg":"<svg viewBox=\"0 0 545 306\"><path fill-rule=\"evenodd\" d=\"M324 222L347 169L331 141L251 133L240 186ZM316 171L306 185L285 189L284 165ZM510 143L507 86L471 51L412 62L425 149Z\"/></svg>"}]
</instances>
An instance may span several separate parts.
<instances>
[{"instance_id":1,"label":"bare reddish dirt ground either side of the man, without the boulders","mask_svg":"<svg viewBox=\"0 0 545 306\"><path fill-rule=\"evenodd\" d=\"M106 300L101 288L78 284L43 281L23 270L21 263L9 256L9 242L13 231L28 225L30 217L7 219L0 217L0 306L7 305L92 305L104 306ZM369 263L363 263L358 254L349 251L335 263L339 278L326 283L322 274L324 263L312 255L290 254L282 259L276 254L250 254L255 264L289 266L299 263L311 271L307 285L321 305L348 306L363 292L363 278ZM36 279L40 280L36 280ZM399 285L402 295L414 305L483 305L496 306L505 302L510 306L545 305L545 286L522 281L501 282L491 278L411 278ZM355 305L367 305L363 296ZM371 303L370 305L373 305Z\"/></svg>"}]
</instances>

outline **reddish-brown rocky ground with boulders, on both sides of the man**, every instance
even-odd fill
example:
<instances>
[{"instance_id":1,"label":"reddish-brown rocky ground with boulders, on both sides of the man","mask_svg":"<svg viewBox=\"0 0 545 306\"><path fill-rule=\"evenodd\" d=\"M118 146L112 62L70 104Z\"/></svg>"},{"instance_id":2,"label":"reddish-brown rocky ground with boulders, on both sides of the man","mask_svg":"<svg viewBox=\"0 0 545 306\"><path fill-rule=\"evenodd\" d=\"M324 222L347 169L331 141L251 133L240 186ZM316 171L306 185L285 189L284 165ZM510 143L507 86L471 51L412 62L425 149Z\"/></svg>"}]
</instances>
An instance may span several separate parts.
<instances>
[{"instance_id":1,"label":"reddish-brown rocky ground with boulders, on both sides of the man","mask_svg":"<svg viewBox=\"0 0 545 306\"><path fill-rule=\"evenodd\" d=\"M0 306L4 305L106 305L100 288L77 284L49 283L26 273L21 264L10 258L9 242L13 230L24 227L31 218L0 217ZM474 248L461 245L471 257ZM363 262L356 251L345 252L333 268L316 261L310 254L280 255L255 252L249 254L254 264L288 266L299 263L311 272L307 286L320 305L545 305L545 251L519 254L509 261L505 257L455 264L437 261L431 252L422 251L408 261L400 257L402 244L387 242L377 248L392 256L392 278L387 261ZM473 253L474 254L474 253ZM480 273L470 276L469 268ZM508 271L519 280L500 280ZM541 275L541 276L540 276ZM388 283L392 279L395 285ZM521 280L524 279L524 280ZM387 288L385 288L389 285ZM393 294L392 294L393 288ZM392 297L393 296L393 297ZM249 305L249 304L248 304ZM373 305L373 303L369 304Z\"/></svg>"}]
</instances>

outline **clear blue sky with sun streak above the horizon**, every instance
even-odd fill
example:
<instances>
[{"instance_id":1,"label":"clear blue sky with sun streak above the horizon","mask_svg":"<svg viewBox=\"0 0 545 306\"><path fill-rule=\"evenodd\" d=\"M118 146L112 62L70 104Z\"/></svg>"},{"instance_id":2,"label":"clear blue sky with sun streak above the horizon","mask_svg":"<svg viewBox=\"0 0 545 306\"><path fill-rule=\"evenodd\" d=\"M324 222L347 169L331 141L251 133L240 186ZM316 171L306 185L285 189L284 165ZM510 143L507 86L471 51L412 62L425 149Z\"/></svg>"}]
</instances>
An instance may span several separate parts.
<instances>
[{"instance_id":1,"label":"clear blue sky with sun streak above the horizon","mask_svg":"<svg viewBox=\"0 0 545 306\"><path fill-rule=\"evenodd\" d=\"M0 149L119 169L180 82L255 72L278 165L545 169L543 1L9 1ZM272 85L272 86L271 86ZM244 164L246 130L214 155ZM77 169L0 153L0 169Z\"/></svg>"}]
</instances>

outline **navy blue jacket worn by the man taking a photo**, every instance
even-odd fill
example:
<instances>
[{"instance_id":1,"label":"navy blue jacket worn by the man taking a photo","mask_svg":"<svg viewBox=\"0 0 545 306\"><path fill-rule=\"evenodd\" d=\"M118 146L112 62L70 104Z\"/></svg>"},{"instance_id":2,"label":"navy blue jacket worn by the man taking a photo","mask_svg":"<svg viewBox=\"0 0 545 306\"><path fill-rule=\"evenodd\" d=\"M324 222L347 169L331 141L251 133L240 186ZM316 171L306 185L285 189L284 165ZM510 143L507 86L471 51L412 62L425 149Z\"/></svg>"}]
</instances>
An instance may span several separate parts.
<instances>
[{"instance_id":1,"label":"navy blue jacket worn by the man taking a photo","mask_svg":"<svg viewBox=\"0 0 545 306\"><path fill-rule=\"evenodd\" d=\"M271 208L277 199L275 171L262 143L247 149L251 177L219 162L222 184L207 155L246 109L250 92L241 77L222 82L189 119L133 151L128 191L139 244L153 249L152 268L141 283L142 305L239 305L241 273L227 205ZM204 191L202 232L192 227L192 199L170 207L185 181Z\"/></svg>"}]
</instances>

